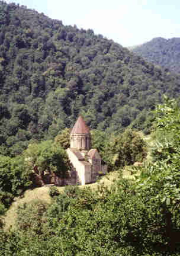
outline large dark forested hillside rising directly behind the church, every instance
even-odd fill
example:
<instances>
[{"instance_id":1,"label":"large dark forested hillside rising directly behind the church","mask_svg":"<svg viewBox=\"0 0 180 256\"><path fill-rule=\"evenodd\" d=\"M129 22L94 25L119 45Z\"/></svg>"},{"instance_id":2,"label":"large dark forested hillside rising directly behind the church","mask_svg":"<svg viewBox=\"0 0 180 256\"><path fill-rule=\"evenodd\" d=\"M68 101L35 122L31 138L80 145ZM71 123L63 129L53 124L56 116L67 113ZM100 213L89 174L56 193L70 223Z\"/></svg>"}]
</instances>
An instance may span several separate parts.
<instances>
[{"instance_id":1,"label":"large dark forested hillside rising directly behind the church","mask_svg":"<svg viewBox=\"0 0 180 256\"><path fill-rule=\"evenodd\" d=\"M60 17L59 17L60 18ZM0 153L52 139L79 113L91 128L142 129L180 77L126 48L44 14L0 2Z\"/></svg>"}]
</instances>

